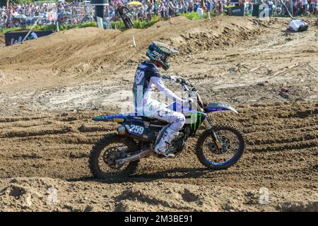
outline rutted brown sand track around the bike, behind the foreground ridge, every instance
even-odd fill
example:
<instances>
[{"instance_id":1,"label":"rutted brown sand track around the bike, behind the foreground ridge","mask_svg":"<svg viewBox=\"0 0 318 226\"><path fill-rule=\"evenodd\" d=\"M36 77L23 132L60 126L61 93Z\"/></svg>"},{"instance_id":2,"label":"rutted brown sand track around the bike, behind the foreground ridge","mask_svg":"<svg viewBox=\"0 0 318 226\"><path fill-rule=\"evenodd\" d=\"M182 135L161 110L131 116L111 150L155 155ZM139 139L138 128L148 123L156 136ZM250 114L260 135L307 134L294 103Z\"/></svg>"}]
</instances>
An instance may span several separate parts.
<instances>
[{"instance_id":1,"label":"rutted brown sand track around the bike, behind the foreground ridge","mask_svg":"<svg viewBox=\"0 0 318 226\"><path fill-rule=\"evenodd\" d=\"M261 169L261 172L266 172L280 163L281 170L297 171L300 169L299 173L304 177L306 175L305 178L314 179L307 174L310 170L317 168L317 165L314 164L317 163L317 158L310 158L314 155L314 151L317 151L318 109L316 105L252 105L238 109L240 111L238 117L218 113L213 118L218 123L226 122L228 118L228 121L234 121L245 133L247 155L240 162L241 170L247 167L249 171L255 166L256 172L253 175L257 176L259 165L266 163ZM90 177L87 157L91 145L105 133L115 132L116 129L116 124L113 123L91 121L90 117L93 115L94 112L84 112L37 116L30 117L28 120L2 118L0 123L1 177L37 176L60 179ZM186 173L189 169L189 172L194 172L195 175L196 167L201 167L192 153L195 142L196 139L192 139L189 148L180 156L180 159L167 160L169 162L167 164L162 160L157 164L155 158L145 160L145 164L141 165L138 172L141 174L140 177L164 177L165 170L167 170L167 176L170 175L173 179L173 169L176 169L177 172L178 168L181 172L186 171ZM185 161L189 155L192 156L191 164L189 161ZM262 156L268 156L269 161L267 161L267 157ZM298 164L290 165L289 160L293 160L295 157L299 160ZM225 174L235 173L237 169L232 167L232 169L226 170ZM300 176L299 174L293 176L292 171L290 171L290 177ZM198 173L201 174L200 170ZM222 174L222 172L217 173ZM268 173L273 174L273 177L279 177L281 171L269 170ZM215 172L207 171L203 176L209 177L210 174L213 175ZM248 176L251 175L248 174ZM240 177L244 177L244 174L241 174ZM286 175L283 177L287 179ZM191 180L191 178L189 179ZM228 178L220 177L218 179L223 181ZM200 179L195 180L194 183L200 181ZM243 179L240 186L244 185L245 180ZM294 186L302 186L302 184Z\"/></svg>"}]
</instances>

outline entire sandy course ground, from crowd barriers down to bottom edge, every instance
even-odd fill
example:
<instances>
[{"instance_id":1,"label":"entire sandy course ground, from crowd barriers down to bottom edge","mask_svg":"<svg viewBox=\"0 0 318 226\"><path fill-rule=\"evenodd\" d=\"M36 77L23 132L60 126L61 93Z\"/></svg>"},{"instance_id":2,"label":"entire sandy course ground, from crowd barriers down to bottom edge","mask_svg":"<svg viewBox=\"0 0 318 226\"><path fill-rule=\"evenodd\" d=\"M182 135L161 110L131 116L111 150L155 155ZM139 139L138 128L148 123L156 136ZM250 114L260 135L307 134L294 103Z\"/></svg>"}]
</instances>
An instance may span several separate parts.
<instances>
[{"instance_id":1,"label":"entire sandy course ground, from crowd barriers down to bottom edge","mask_svg":"<svg viewBox=\"0 0 318 226\"><path fill-rule=\"evenodd\" d=\"M286 18L213 22L179 17L146 30L86 28L1 47L0 208L317 211L314 20L302 33L285 32ZM132 35L136 49L129 47ZM126 107L150 40L182 50L170 73L190 79L204 100L228 102L240 112L212 114L216 123L245 133L247 151L237 165L204 169L191 138L177 159L141 160L129 179L92 178L88 153L116 124L91 117ZM266 205L259 204L262 187L269 189ZM50 201L52 191L57 203Z\"/></svg>"}]
</instances>

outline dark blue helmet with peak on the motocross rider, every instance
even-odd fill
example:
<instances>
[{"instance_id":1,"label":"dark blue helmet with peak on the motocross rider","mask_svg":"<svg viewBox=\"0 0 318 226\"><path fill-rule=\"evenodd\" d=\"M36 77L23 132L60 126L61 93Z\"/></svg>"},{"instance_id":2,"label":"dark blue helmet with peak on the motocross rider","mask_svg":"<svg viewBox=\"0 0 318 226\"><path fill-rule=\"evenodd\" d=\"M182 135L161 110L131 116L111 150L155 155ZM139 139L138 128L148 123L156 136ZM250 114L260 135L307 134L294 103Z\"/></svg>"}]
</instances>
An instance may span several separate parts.
<instances>
[{"instance_id":1,"label":"dark blue helmet with peak on the motocross rider","mask_svg":"<svg viewBox=\"0 0 318 226\"><path fill-rule=\"evenodd\" d=\"M169 57L172 54L179 53L163 42L151 42L148 47L147 57L154 61L155 64L161 66L165 71L169 69Z\"/></svg>"}]
</instances>

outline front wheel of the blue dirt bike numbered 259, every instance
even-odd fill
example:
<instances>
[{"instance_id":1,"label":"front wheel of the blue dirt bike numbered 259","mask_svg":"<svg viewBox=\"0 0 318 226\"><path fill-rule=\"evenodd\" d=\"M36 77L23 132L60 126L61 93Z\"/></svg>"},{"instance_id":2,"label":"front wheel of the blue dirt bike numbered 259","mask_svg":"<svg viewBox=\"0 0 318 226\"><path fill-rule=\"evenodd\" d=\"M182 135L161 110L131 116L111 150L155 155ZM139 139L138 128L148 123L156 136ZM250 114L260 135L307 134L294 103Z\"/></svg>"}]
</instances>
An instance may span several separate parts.
<instances>
[{"instance_id":1,"label":"front wheel of the blue dirt bike numbered 259","mask_svg":"<svg viewBox=\"0 0 318 226\"><path fill-rule=\"evenodd\" d=\"M232 125L213 126L221 148L213 141L210 130L204 131L196 144L199 161L209 169L227 169L240 159L245 150L242 133Z\"/></svg>"}]
</instances>

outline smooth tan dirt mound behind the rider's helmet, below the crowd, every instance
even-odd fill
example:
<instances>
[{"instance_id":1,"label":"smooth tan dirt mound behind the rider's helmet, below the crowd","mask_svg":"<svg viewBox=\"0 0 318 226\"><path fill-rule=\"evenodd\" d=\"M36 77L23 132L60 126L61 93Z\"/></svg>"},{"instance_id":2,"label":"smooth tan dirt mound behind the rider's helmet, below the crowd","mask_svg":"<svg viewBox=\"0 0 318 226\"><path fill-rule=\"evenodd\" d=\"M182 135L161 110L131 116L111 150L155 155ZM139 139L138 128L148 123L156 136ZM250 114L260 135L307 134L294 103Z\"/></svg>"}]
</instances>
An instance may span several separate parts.
<instances>
[{"instance_id":1,"label":"smooth tan dirt mound behind the rider's helmet, below the crowd","mask_svg":"<svg viewBox=\"0 0 318 226\"><path fill-rule=\"evenodd\" d=\"M222 49L253 39L265 30L254 20L232 17L208 20L188 20L183 16L155 23L144 30L101 30L81 28L54 33L38 40L1 49L0 69L28 71L30 78L50 78L78 81L100 73L118 73L145 59L144 52L152 40L167 42L183 54L208 49ZM135 37L136 48L131 47ZM23 54L20 54L23 52ZM11 71L12 70L12 71ZM32 71L32 73L30 73ZM62 76L63 75L63 76ZM11 77L11 76L10 76ZM13 79L16 76L13 77ZM18 76L19 77L19 76ZM18 79L18 77L16 79ZM12 78L11 78L12 79ZM12 82L12 81L11 81ZM10 81L7 81L10 83Z\"/></svg>"}]
</instances>

